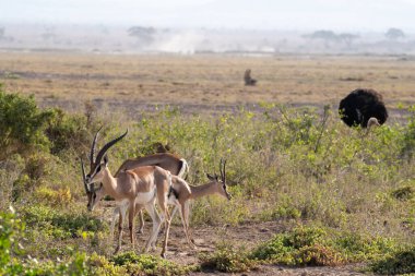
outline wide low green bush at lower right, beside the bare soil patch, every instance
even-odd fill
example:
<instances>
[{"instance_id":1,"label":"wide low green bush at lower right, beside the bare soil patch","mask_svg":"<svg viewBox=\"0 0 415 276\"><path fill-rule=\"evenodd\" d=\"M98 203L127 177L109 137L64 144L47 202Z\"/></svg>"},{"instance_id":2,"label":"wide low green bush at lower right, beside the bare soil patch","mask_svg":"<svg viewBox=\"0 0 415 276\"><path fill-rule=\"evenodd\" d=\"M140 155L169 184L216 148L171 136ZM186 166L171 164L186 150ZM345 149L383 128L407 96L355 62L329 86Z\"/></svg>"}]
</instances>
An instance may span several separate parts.
<instances>
[{"instance_id":1,"label":"wide low green bush at lower right, beside the bare soil patch","mask_svg":"<svg viewBox=\"0 0 415 276\"><path fill-rule=\"evenodd\" d=\"M339 265L376 260L393 252L395 242L382 237L336 232L300 226L278 233L259 247L251 257L285 265Z\"/></svg>"}]
</instances>

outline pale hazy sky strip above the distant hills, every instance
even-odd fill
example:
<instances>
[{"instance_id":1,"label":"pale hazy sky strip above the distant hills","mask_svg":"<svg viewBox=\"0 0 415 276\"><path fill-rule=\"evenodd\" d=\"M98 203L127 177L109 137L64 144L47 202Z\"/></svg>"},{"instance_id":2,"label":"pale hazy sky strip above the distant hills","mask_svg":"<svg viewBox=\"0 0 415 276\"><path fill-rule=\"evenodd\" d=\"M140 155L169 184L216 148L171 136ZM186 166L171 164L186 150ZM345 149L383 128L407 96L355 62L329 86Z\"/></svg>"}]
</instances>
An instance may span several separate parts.
<instances>
[{"instance_id":1,"label":"pale hazy sky strip above the distant hills","mask_svg":"<svg viewBox=\"0 0 415 276\"><path fill-rule=\"evenodd\" d=\"M0 0L0 22L415 31L415 0Z\"/></svg>"}]
</instances>

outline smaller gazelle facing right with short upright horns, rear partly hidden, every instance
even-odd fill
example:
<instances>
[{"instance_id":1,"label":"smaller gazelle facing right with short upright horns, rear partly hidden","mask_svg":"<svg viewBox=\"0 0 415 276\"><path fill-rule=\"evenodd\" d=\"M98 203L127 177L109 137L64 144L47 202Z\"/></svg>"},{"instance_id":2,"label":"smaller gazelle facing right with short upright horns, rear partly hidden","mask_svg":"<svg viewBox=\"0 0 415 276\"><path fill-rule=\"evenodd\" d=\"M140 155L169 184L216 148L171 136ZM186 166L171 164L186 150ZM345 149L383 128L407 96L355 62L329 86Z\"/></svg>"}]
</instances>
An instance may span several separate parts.
<instances>
[{"instance_id":1,"label":"smaller gazelle facing right with short upright horns, rear partly hidden","mask_svg":"<svg viewBox=\"0 0 415 276\"><path fill-rule=\"evenodd\" d=\"M195 249L195 244L191 241L190 235L189 235L189 204L190 200L195 200L199 197L208 196L211 194L218 194L227 200L232 199L232 195L227 192L227 185L226 185L226 160L224 161L221 159L220 164L220 172L221 172L221 179L216 173L209 175L206 173L208 179L210 182L201 185L190 185L186 180L178 176L171 176L173 177L173 191L169 193L168 196L168 204L175 205L175 208L171 213L171 219L175 216L176 212L179 211L181 223L183 225L183 230L186 235L186 239L190 245L190 248ZM143 208L142 205L135 203L135 211L141 211ZM123 212L127 209L123 208ZM117 214L114 213L112 216L112 226L111 226L111 232L114 232L114 226L115 226L115 219ZM111 233L112 235L112 233ZM155 240L154 240L155 242ZM154 247L154 244L152 244Z\"/></svg>"}]
</instances>

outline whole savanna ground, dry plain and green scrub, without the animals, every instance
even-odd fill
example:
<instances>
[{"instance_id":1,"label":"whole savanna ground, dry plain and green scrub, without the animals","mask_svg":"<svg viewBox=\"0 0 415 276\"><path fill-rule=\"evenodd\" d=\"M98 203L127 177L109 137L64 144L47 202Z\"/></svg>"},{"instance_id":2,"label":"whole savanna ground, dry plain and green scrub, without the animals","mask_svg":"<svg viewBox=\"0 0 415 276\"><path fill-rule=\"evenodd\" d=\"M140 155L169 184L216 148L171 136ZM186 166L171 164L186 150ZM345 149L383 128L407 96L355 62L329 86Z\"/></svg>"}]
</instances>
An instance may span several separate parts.
<instances>
[{"instance_id":1,"label":"whole savanna ground, dry plain and green scrub, without the animals","mask_svg":"<svg viewBox=\"0 0 415 276\"><path fill-rule=\"evenodd\" d=\"M7 94L0 103L12 111L1 117L0 206L13 205L25 229L2 218L14 229L2 237L15 236L24 249L0 242L15 251L0 260L39 267L26 275L141 275L145 267L155 275L414 272L414 61L1 52ZM244 86L247 68L257 86ZM367 133L340 121L339 100L357 87L383 95L386 125ZM25 106L7 98L13 93L34 98ZM221 157L228 160L233 201L194 202L198 250L187 247L176 219L167 256L174 263L154 261L162 271L131 255L127 237L123 255L112 257L111 202L86 212L79 156L102 124L99 145L130 130L110 149L111 171L127 157L152 153L158 142L189 161L192 184L217 171ZM147 221L146 233L150 227ZM143 244L145 235L139 237ZM402 259L402 269L388 266Z\"/></svg>"}]
</instances>

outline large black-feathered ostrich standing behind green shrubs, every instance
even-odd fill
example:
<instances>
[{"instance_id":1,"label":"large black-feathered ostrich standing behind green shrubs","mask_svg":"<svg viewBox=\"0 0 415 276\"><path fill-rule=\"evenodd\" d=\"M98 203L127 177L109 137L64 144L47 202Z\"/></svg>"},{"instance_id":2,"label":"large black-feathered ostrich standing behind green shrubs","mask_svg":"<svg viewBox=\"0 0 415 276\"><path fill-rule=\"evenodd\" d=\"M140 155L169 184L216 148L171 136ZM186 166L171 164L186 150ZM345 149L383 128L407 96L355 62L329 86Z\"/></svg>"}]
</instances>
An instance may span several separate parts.
<instances>
[{"instance_id":1,"label":"large black-feathered ostrich standing behind green shrubs","mask_svg":"<svg viewBox=\"0 0 415 276\"><path fill-rule=\"evenodd\" d=\"M339 105L339 113L348 127L380 125L388 119L388 110L383 104L382 95L374 89L366 88L355 89L343 98Z\"/></svg>"}]
</instances>

